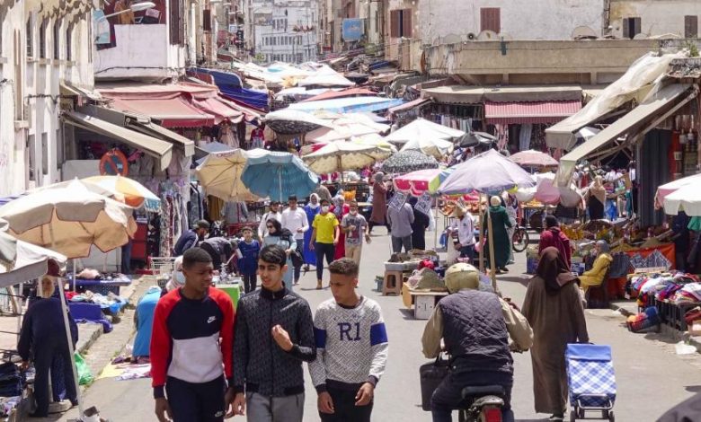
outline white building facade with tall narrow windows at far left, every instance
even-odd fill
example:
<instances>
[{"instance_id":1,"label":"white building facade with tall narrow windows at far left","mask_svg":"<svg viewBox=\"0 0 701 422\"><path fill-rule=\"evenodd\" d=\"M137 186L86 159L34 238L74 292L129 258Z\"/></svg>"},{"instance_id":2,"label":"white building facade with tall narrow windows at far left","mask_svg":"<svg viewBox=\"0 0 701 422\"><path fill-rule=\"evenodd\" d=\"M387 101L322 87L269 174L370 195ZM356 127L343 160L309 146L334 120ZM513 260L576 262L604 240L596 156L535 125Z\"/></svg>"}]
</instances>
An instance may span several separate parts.
<instances>
[{"instance_id":1,"label":"white building facade with tall narrow windows at far left","mask_svg":"<svg viewBox=\"0 0 701 422\"><path fill-rule=\"evenodd\" d=\"M64 101L93 90L92 4L0 2L0 195L61 180Z\"/></svg>"}]
</instances>

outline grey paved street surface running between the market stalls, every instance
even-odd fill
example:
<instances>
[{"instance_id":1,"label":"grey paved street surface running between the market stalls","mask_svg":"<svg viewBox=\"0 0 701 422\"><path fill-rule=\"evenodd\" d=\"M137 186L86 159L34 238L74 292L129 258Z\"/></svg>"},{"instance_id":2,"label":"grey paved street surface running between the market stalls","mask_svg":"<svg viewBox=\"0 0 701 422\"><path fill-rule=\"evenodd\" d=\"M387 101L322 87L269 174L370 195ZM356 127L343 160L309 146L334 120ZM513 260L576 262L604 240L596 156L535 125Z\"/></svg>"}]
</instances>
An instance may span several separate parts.
<instances>
[{"instance_id":1,"label":"grey paved street surface running between the market stalls","mask_svg":"<svg viewBox=\"0 0 701 422\"><path fill-rule=\"evenodd\" d=\"M376 230L373 242L366 245L360 268L360 291L382 306L390 339L390 358L385 376L378 384L373 413L378 421L427 421L430 414L420 407L421 389L418 368L426 362L421 356L421 332L425 321L413 320L404 309L401 298L382 296L374 288L374 278L384 271L389 242L383 228ZM380 235L380 233L382 235ZM429 244L433 233L428 233ZM500 276L501 291L516 303L522 303L528 277L525 256L516 257L517 264L508 275ZM315 275L308 273L297 292L306 297L312 308L331 296L328 289L316 291ZM633 334L622 326L624 319L608 310L587 311L590 338L599 344L613 346L617 373L619 421L653 421L673 404L701 391L701 356L676 356L673 344L657 335ZM109 334L108 334L109 335ZM530 356L515 356L513 406L519 421L544 420L533 410ZM153 417L150 380L98 380L85 394L88 405L97 406L102 417L112 421L147 421ZM317 421L315 391L306 376L307 396L305 421ZM75 418L76 412L67 417ZM243 420L235 418L233 420ZM457 419L457 418L456 418ZM66 420L63 418L61 420Z\"/></svg>"}]
</instances>

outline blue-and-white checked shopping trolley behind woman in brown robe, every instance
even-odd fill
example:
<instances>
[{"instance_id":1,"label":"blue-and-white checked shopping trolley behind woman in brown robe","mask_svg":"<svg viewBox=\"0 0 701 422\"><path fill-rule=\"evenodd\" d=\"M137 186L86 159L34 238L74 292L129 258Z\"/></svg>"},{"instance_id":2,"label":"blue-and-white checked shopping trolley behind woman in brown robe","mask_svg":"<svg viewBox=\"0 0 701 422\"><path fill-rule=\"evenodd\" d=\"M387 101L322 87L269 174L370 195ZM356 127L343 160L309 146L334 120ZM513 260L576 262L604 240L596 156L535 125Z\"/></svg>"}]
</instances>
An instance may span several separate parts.
<instances>
[{"instance_id":1,"label":"blue-and-white checked shopping trolley behind woman in brown robe","mask_svg":"<svg viewBox=\"0 0 701 422\"><path fill-rule=\"evenodd\" d=\"M616 375L611 347L569 344L565 353L570 388L570 421L585 419L587 412L600 412L600 419L614 422Z\"/></svg>"}]
</instances>

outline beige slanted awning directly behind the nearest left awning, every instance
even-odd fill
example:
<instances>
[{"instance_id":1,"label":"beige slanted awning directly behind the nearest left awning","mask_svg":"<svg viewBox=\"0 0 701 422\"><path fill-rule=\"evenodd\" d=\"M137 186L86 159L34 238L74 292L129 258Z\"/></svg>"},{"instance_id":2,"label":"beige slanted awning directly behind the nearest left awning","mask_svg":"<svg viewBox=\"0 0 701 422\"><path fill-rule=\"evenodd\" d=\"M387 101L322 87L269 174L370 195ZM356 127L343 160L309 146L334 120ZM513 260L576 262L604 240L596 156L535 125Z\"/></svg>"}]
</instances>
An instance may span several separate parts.
<instances>
[{"instance_id":1,"label":"beige slanted awning directly behind the nearest left awning","mask_svg":"<svg viewBox=\"0 0 701 422\"><path fill-rule=\"evenodd\" d=\"M96 105L84 105L77 109L78 112L104 120L112 125L128 127L147 136L153 136L182 149L186 157L195 153L195 143L185 136L181 136L172 130L156 125L148 116L140 113L125 113L120 110L108 109Z\"/></svg>"}]
</instances>

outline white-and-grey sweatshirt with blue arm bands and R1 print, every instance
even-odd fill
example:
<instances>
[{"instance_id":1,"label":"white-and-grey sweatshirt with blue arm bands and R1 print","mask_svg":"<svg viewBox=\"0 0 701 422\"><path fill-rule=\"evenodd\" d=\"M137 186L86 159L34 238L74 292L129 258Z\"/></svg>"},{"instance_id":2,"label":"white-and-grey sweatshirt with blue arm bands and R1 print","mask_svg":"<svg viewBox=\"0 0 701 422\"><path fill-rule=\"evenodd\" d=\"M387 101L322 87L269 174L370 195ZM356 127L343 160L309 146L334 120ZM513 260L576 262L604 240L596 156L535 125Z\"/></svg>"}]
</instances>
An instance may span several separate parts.
<instances>
[{"instance_id":1,"label":"white-and-grey sweatshirt with blue arm bands and R1 print","mask_svg":"<svg viewBox=\"0 0 701 422\"><path fill-rule=\"evenodd\" d=\"M316 391L326 386L357 390L359 384L375 385L385 372L387 332L379 304L366 297L354 308L332 298L321 303L314 317L316 360L309 373Z\"/></svg>"}]
</instances>

